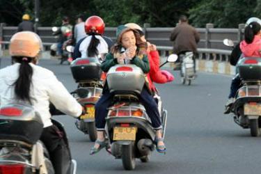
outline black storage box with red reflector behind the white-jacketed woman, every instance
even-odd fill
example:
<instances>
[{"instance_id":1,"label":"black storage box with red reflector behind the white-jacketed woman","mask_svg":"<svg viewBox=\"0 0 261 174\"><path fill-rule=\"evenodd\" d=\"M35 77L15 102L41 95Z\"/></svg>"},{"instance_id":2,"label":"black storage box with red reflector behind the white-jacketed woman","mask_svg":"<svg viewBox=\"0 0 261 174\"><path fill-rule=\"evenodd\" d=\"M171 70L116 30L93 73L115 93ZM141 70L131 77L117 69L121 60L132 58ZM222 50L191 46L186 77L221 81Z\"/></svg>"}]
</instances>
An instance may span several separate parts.
<instances>
[{"instance_id":1,"label":"black storage box with red reflector behind the white-jacketed woman","mask_svg":"<svg viewBox=\"0 0 261 174\"><path fill-rule=\"evenodd\" d=\"M31 106L7 105L0 108L0 139L34 144L40 139L43 124Z\"/></svg>"}]
</instances>

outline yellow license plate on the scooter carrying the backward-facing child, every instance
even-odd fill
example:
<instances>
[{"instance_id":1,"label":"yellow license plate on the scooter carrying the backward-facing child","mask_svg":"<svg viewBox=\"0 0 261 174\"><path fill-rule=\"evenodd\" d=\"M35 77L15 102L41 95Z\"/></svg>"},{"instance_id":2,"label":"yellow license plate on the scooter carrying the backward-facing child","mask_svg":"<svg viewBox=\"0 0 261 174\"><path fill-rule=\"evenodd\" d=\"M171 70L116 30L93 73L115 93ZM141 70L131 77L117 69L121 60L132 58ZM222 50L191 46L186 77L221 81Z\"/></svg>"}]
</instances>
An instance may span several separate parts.
<instances>
[{"instance_id":1,"label":"yellow license plate on the scooter carrying the backward-facing child","mask_svg":"<svg viewBox=\"0 0 261 174\"><path fill-rule=\"evenodd\" d=\"M113 127L113 140L136 140L136 127Z\"/></svg>"}]
</instances>

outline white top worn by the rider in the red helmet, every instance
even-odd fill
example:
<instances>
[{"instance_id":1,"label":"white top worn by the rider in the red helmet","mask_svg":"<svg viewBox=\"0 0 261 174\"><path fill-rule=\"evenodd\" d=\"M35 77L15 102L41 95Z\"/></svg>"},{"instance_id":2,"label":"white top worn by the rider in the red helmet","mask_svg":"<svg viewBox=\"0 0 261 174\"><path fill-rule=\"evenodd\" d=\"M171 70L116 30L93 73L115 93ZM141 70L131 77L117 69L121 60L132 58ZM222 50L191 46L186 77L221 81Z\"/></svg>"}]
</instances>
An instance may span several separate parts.
<instances>
[{"instance_id":1,"label":"white top worn by the rider in the red helmet","mask_svg":"<svg viewBox=\"0 0 261 174\"><path fill-rule=\"evenodd\" d=\"M81 52L81 58L87 58L88 53L87 53L87 49L90 45L90 40L93 36L92 35L88 35L80 44L79 46L79 52ZM106 54L109 52L108 49L108 44L107 42L104 40L104 38L102 38L102 36L100 35L95 35L95 38L97 38L98 40L100 40L100 43L97 45L97 50L98 50L98 54ZM98 56L96 56L98 58Z\"/></svg>"}]
</instances>

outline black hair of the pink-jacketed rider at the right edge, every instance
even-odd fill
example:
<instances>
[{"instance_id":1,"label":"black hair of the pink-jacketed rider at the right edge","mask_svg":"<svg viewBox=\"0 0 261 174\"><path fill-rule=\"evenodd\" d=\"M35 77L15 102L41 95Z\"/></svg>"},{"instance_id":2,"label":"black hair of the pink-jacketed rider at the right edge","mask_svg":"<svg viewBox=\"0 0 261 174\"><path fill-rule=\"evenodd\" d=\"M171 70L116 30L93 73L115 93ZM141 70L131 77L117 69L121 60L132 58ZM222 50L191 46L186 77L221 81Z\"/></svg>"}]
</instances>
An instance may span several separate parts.
<instances>
[{"instance_id":1,"label":"black hair of the pink-jacketed rider at the right edge","mask_svg":"<svg viewBox=\"0 0 261 174\"><path fill-rule=\"evenodd\" d=\"M258 24L258 22L251 22L250 24L248 24L244 31L246 43L251 44L255 35L257 35L260 32L260 29L261 26L260 24Z\"/></svg>"}]
</instances>

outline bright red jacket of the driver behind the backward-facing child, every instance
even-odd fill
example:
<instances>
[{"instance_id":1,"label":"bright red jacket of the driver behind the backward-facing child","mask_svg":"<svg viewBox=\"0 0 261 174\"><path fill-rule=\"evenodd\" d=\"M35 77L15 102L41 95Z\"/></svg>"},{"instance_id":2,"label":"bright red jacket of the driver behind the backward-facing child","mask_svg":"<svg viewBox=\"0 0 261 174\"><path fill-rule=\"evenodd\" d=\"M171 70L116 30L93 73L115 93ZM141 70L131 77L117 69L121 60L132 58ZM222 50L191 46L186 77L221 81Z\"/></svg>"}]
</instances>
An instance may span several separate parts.
<instances>
[{"instance_id":1,"label":"bright red jacket of the driver behind the backward-facing child","mask_svg":"<svg viewBox=\"0 0 261 174\"><path fill-rule=\"evenodd\" d=\"M148 59L150 63L150 72L148 73L149 86L152 91L157 91L153 82L157 84L166 84L167 77L161 74L159 69L159 52L148 52Z\"/></svg>"}]
</instances>

